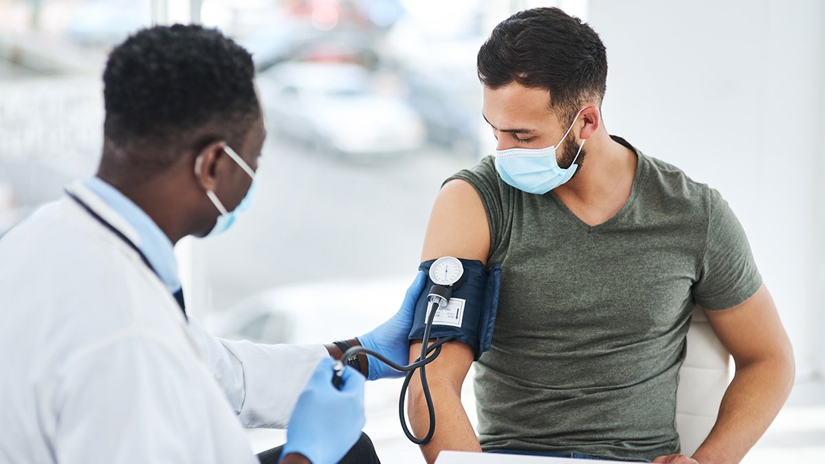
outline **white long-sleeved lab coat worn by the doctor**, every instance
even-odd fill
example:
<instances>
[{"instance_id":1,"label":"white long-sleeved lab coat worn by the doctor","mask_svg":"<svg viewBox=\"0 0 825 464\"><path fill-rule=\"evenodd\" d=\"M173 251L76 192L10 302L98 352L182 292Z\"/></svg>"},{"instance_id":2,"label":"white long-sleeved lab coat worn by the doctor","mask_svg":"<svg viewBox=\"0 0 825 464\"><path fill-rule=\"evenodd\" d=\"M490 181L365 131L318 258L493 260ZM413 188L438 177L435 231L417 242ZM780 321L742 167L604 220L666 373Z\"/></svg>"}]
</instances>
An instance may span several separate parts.
<instances>
[{"instance_id":1,"label":"white long-sleeved lab coat worn by the doctor","mask_svg":"<svg viewBox=\"0 0 825 464\"><path fill-rule=\"evenodd\" d=\"M285 427L327 355L187 324L139 254L68 196L0 239L0 462L255 463L243 426Z\"/></svg>"}]
</instances>

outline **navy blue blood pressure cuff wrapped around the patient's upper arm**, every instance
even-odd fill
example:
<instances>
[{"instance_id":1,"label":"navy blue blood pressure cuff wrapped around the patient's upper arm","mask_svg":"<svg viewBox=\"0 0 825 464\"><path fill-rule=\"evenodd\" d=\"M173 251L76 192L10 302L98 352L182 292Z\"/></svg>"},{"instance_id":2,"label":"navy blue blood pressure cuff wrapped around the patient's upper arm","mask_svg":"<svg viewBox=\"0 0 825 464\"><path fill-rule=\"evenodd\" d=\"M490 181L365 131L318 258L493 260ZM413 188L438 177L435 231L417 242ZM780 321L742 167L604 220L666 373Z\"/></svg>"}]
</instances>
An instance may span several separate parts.
<instances>
[{"instance_id":1,"label":"navy blue blood pressure cuff wrapped around the patient's upper arm","mask_svg":"<svg viewBox=\"0 0 825 464\"><path fill-rule=\"evenodd\" d=\"M424 338L424 326L427 324L427 295L433 282L430 280L430 266L436 260L421 263L419 270L427 273L427 285L415 306L413 329L410 340ZM453 337L467 343L474 349L475 360L490 349L493 340L493 324L496 322L498 309L498 289L502 280L502 265L496 264L488 269L481 261L460 259L464 265L464 282L453 290L450 301L444 309L436 310L430 329L430 339Z\"/></svg>"}]
</instances>

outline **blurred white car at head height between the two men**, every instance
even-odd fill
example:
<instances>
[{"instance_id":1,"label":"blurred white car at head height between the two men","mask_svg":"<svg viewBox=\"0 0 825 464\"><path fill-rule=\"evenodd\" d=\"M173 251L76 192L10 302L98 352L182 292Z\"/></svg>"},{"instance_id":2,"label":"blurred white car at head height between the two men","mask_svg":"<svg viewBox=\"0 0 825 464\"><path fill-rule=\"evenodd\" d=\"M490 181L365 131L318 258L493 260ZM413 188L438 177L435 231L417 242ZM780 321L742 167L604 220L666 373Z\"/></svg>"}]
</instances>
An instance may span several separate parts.
<instances>
[{"instance_id":1,"label":"blurred white car at head height between the two men","mask_svg":"<svg viewBox=\"0 0 825 464\"><path fill-rule=\"evenodd\" d=\"M376 88L356 64L285 62L258 74L268 129L314 149L384 157L420 149L421 116L402 98Z\"/></svg>"}]
</instances>

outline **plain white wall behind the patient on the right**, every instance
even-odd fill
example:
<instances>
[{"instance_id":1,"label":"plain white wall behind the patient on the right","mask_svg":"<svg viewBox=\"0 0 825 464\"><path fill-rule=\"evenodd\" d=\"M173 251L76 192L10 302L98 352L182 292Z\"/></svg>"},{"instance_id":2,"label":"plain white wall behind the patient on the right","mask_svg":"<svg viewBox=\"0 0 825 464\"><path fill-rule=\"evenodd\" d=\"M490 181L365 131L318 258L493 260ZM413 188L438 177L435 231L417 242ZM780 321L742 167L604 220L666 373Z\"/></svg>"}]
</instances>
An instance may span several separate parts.
<instances>
[{"instance_id":1,"label":"plain white wall behind the patient on the right","mask_svg":"<svg viewBox=\"0 0 825 464\"><path fill-rule=\"evenodd\" d=\"M825 349L825 2L590 0L611 134L717 188L794 343Z\"/></svg>"}]
</instances>

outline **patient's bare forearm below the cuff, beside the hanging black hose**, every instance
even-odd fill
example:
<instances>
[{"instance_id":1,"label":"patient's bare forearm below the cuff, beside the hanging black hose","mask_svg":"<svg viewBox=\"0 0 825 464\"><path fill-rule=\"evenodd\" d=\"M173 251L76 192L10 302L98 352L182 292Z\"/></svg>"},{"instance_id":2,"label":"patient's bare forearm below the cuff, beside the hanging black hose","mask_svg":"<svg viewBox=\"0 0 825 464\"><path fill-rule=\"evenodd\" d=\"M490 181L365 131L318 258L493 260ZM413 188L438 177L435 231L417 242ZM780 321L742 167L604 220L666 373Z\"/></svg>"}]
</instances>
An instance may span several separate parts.
<instances>
[{"instance_id":1,"label":"patient's bare forearm below the cuff, beside the hanging black hose","mask_svg":"<svg viewBox=\"0 0 825 464\"><path fill-rule=\"evenodd\" d=\"M479 438L461 405L460 388L456 390L455 386L446 385L437 377L427 376L427 381L436 410L436 431L431 442L421 447L424 459L431 464L445 449L480 452ZM429 430L430 418L417 374L410 382L408 414L416 437L423 438Z\"/></svg>"}]
</instances>

